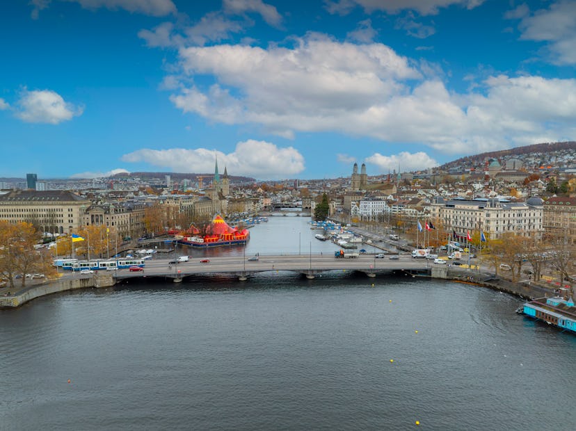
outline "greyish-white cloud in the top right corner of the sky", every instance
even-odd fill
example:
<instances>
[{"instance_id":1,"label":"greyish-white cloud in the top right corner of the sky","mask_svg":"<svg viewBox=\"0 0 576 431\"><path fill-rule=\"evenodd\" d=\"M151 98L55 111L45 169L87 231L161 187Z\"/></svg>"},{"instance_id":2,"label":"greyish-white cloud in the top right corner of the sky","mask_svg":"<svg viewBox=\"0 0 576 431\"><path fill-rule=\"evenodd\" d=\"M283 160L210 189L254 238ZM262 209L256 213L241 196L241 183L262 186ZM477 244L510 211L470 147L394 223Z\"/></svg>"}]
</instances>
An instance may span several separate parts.
<instances>
[{"instance_id":1,"label":"greyish-white cloud in the top right corner of the sky","mask_svg":"<svg viewBox=\"0 0 576 431\"><path fill-rule=\"evenodd\" d=\"M526 12L524 10L524 12ZM514 15L511 15L514 17ZM559 1L520 22L522 39L549 42L552 63L576 64L576 2Z\"/></svg>"}]
</instances>

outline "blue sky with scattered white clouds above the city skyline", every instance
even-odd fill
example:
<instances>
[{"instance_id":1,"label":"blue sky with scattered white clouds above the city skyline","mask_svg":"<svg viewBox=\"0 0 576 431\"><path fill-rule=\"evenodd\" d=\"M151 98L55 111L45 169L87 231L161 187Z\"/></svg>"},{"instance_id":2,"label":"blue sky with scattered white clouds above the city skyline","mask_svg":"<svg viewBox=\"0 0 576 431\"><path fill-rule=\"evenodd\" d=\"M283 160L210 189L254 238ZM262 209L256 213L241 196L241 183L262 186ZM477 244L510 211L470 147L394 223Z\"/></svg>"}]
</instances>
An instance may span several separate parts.
<instances>
[{"instance_id":1,"label":"blue sky with scattered white clouds above the city skyline","mask_svg":"<svg viewBox=\"0 0 576 431\"><path fill-rule=\"evenodd\" d=\"M0 2L0 177L419 170L576 139L576 1Z\"/></svg>"}]
</instances>

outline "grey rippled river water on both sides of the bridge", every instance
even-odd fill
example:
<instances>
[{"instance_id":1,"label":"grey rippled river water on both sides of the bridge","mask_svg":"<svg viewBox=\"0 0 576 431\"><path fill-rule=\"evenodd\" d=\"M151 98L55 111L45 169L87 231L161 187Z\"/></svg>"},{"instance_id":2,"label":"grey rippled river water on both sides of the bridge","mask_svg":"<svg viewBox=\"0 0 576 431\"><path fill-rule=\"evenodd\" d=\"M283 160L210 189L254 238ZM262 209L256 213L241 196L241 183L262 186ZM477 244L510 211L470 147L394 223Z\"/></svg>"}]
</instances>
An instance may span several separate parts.
<instances>
[{"instance_id":1,"label":"grey rippled river water on both sides of the bridge","mask_svg":"<svg viewBox=\"0 0 576 431\"><path fill-rule=\"evenodd\" d=\"M246 254L334 250L306 221ZM574 430L576 337L520 303L350 273L51 295L0 310L0 430Z\"/></svg>"}]
</instances>

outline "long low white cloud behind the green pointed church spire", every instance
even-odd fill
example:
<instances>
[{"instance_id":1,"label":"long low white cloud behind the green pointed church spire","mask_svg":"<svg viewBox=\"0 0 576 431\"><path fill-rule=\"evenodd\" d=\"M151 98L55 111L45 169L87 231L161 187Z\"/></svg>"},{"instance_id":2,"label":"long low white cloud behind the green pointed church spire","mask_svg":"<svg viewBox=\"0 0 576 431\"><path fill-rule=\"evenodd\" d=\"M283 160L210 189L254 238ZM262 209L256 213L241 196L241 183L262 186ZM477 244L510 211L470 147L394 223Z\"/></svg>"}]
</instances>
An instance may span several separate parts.
<instances>
[{"instance_id":1,"label":"long low white cloud behind the green pointed church spire","mask_svg":"<svg viewBox=\"0 0 576 431\"><path fill-rule=\"evenodd\" d=\"M304 158L293 147L279 148L272 143L246 140L237 143L230 154L210 149L139 149L122 156L122 161L145 162L173 172L211 172L214 157L218 165L225 166L229 174L258 178L292 177L304 170Z\"/></svg>"}]
</instances>

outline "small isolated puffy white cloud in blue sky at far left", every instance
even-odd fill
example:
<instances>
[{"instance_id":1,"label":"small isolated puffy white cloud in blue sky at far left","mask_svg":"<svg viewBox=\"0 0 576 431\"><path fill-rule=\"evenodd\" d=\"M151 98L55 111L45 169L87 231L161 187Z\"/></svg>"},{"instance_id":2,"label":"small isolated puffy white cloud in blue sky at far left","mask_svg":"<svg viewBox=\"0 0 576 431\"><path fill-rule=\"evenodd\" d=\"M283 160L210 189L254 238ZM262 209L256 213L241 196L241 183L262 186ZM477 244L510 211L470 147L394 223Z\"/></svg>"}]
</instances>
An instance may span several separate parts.
<instances>
[{"instance_id":1,"label":"small isolated puffy white cloud in blue sky at far left","mask_svg":"<svg viewBox=\"0 0 576 431\"><path fill-rule=\"evenodd\" d=\"M58 124L83 112L82 107L64 101L52 90L24 90L17 106L16 116L32 123Z\"/></svg>"}]
</instances>

